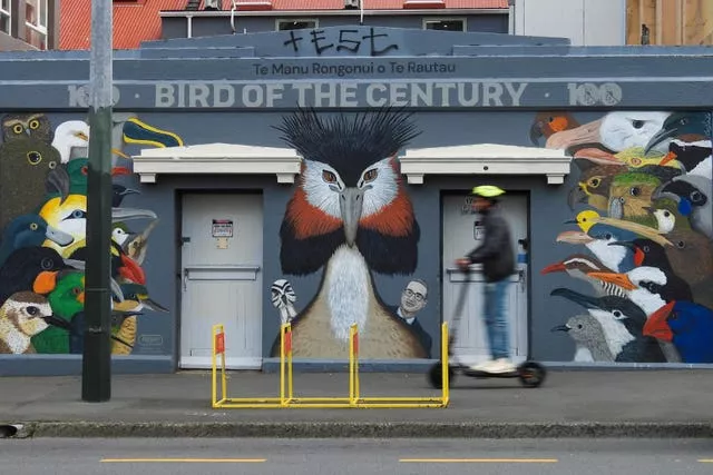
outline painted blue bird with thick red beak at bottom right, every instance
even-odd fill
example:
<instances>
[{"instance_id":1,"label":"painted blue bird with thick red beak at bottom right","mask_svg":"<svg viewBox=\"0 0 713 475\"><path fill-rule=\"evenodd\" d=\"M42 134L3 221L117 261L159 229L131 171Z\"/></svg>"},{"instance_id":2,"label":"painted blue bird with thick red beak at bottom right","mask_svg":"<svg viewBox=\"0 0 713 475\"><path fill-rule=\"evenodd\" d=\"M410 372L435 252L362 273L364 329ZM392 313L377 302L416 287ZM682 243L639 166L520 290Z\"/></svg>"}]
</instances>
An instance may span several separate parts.
<instances>
[{"instance_id":1,"label":"painted blue bird with thick red beak at bottom right","mask_svg":"<svg viewBox=\"0 0 713 475\"><path fill-rule=\"evenodd\" d=\"M644 335L672 342L683 363L713 363L713 310L707 307L670 301L648 317Z\"/></svg>"}]
</instances>

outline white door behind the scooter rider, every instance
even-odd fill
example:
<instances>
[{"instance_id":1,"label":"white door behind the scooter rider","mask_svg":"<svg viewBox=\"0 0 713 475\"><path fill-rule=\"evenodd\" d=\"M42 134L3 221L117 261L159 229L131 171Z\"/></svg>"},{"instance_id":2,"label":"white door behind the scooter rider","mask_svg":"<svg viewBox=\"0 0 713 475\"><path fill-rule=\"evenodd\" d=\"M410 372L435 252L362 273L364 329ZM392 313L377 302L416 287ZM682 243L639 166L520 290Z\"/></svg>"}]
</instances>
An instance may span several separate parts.
<instances>
[{"instance_id":1,"label":"white door behind the scooter rider","mask_svg":"<svg viewBox=\"0 0 713 475\"><path fill-rule=\"evenodd\" d=\"M457 330L453 353L463 364L473 364L486 359L490 355L490 346L482 317L485 278L480 265L473 265L469 281L466 274L456 268L453 261L465 256L479 245L481 235L478 224L480 215L471 211L471 197L468 195L448 195L442 199L442 286L443 286L443 319L449 328ZM519 239L527 239L527 196L512 194L504 195L500 208L505 219L510 225L511 245L517 255L521 251ZM509 295L506 313L510 321L510 355L515 363L527 358L527 265L518 264L518 273L510 277ZM468 297L463 313L457 328L451 320L456 311L459 293L468 285Z\"/></svg>"}]
</instances>

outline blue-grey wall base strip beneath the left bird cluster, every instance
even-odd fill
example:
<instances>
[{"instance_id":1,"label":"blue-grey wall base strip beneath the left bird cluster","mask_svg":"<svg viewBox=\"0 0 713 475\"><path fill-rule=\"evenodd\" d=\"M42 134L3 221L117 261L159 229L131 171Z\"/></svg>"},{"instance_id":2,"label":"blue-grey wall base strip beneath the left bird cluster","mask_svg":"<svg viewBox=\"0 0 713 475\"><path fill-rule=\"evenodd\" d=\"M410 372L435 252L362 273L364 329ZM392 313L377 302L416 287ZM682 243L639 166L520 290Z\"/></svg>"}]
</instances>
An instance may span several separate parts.
<instances>
[{"instance_id":1,"label":"blue-grey wall base strip beneath the left bird cluster","mask_svg":"<svg viewBox=\"0 0 713 475\"><path fill-rule=\"evenodd\" d=\"M114 356L111 374L168 374L176 367L170 356ZM0 355L0 376L81 375L80 355Z\"/></svg>"}]
</instances>

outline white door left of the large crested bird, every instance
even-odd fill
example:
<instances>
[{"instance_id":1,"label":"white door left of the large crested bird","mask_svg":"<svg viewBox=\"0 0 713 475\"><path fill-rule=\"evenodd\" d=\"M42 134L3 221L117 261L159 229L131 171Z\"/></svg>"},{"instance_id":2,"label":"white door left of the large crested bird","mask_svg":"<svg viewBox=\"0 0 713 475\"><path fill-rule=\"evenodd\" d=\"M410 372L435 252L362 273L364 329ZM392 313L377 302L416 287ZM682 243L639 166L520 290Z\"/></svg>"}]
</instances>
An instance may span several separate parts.
<instances>
[{"instance_id":1,"label":"white door left of the large crested bird","mask_svg":"<svg viewBox=\"0 0 713 475\"><path fill-rule=\"evenodd\" d=\"M262 364L262 195L184 195L182 368L209 368L212 327L225 329L226 365Z\"/></svg>"}]
</instances>

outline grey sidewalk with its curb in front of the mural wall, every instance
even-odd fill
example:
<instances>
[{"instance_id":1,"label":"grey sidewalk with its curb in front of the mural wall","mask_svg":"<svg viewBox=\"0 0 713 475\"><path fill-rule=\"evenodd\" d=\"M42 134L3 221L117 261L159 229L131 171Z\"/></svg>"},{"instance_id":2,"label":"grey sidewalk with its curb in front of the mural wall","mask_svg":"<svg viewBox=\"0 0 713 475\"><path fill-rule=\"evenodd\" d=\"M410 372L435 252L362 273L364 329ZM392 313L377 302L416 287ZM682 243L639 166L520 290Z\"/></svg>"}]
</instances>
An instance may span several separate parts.
<instances>
[{"instance_id":1,"label":"grey sidewalk with its curb in front of the mural wall","mask_svg":"<svg viewBox=\"0 0 713 475\"><path fill-rule=\"evenodd\" d=\"M713 437L710 370L550 369L539 388L458 376L447 408L213 409L211 373L116 375L111 400L84 403L81 378L0 378L0 425L16 436ZM279 375L231 373L228 396L277 396ZM344 373L295 374L295 396L346 396ZM439 393L423 374L364 373L362 396Z\"/></svg>"}]
</instances>

